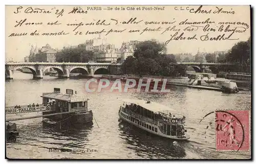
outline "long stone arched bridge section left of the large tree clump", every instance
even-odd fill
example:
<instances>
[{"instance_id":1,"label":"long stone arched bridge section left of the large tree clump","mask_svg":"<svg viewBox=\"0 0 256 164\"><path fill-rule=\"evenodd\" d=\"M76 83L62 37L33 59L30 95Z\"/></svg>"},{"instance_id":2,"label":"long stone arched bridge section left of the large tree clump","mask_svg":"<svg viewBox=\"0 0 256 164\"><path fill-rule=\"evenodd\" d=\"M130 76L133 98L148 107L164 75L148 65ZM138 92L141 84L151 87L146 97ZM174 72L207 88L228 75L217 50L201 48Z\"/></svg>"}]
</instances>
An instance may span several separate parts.
<instances>
[{"instance_id":1,"label":"long stone arched bridge section left of the large tree clump","mask_svg":"<svg viewBox=\"0 0 256 164\"><path fill-rule=\"evenodd\" d=\"M49 62L24 62L24 63L6 63L6 79L13 79L13 73L17 69L28 68L33 74L34 79L42 79L44 72L49 68L54 68L60 78L69 78L70 73L79 68L89 77L92 77L100 70L108 74L121 74L121 65L117 63L49 63Z\"/></svg>"}]
</instances>

